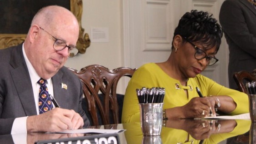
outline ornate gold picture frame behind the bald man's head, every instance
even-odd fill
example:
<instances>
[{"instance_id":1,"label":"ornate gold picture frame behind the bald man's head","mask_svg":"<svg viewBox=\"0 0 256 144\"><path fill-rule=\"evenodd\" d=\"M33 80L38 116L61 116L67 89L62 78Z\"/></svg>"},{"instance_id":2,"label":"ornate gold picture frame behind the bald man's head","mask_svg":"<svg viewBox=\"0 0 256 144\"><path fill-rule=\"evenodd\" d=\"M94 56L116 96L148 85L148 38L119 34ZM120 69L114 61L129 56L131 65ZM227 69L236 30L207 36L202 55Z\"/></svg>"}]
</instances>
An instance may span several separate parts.
<instances>
[{"instance_id":1,"label":"ornate gold picture frame behind the bald man's head","mask_svg":"<svg viewBox=\"0 0 256 144\"><path fill-rule=\"evenodd\" d=\"M81 26L83 2L82 0L70 0L70 11L78 20L80 31L76 48L79 53L84 54L86 49L90 46L90 38L87 33L84 34L84 29ZM0 49L5 49L10 46L22 43L26 38L26 34L0 34Z\"/></svg>"}]
</instances>

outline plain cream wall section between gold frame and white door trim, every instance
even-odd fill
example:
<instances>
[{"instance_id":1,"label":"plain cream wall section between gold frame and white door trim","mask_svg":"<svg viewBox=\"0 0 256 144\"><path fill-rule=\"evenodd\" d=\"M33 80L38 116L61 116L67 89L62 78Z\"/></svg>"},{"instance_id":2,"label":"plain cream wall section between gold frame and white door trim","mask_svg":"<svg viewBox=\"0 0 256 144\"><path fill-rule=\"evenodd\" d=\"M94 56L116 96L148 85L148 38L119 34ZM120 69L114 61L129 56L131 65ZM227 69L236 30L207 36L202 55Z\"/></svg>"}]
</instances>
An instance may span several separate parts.
<instances>
[{"instance_id":1,"label":"plain cream wall section between gold frame and white door trim","mask_svg":"<svg viewBox=\"0 0 256 144\"><path fill-rule=\"evenodd\" d=\"M99 64L110 70L123 66L121 61L120 0L83 0L82 28L89 34L95 27L109 29L109 42L91 43L85 54L69 58L65 66L80 70Z\"/></svg>"}]
</instances>

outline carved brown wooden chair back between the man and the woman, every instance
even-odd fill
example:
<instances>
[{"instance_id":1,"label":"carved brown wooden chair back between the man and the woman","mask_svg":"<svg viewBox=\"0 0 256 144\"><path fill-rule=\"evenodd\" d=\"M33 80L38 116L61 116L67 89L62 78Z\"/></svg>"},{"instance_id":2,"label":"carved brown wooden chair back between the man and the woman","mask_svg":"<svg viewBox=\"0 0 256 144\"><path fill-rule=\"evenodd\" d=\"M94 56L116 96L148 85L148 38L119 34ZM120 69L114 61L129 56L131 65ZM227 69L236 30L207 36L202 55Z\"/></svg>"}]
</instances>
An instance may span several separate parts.
<instances>
[{"instance_id":1,"label":"carved brown wooden chair back between the man and the woman","mask_svg":"<svg viewBox=\"0 0 256 144\"><path fill-rule=\"evenodd\" d=\"M87 109L91 125L120 123L124 95L116 94L116 87L121 77L130 77L136 69L120 67L114 70L101 65L89 65L80 71L69 68L77 75L82 84L85 95L83 109ZM99 94L101 92L101 94ZM121 96L121 109L118 105Z\"/></svg>"}]
</instances>

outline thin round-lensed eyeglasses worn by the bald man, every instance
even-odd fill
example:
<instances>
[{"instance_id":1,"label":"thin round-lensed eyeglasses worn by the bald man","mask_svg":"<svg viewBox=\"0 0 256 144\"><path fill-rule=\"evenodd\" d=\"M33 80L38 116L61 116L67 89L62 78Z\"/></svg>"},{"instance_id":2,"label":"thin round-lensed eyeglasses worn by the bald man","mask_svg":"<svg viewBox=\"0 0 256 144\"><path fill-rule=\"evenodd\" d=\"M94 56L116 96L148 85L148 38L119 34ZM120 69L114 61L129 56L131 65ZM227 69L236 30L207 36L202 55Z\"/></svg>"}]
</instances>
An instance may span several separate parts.
<instances>
[{"instance_id":1,"label":"thin round-lensed eyeglasses worn by the bald man","mask_svg":"<svg viewBox=\"0 0 256 144\"><path fill-rule=\"evenodd\" d=\"M76 48L75 48L75 46L68 46L66 43L65 43L65 41L63 41L63 40L59 40L59 39L57 39L57 38L55 38L53 35L51 35L48 31L46 31L45 29L43 29L43 28L41 28L41 27L39 27L41 30L44 30L47 34L49 34L50 36L52 36L54 39L55 39L55 42L54 42L54 44L53 44L53 48L54 48L54 50L56 50L56 51L61 51L61 50L64 50L66 47L68 47L68 52L69 52L69 54L70 55L74 55L74 50L77 50ZM78 52L78 50L77 50L77 52ZM75 54L77 54L77 52L75 53Z\"/></svg>"}]
</instances>

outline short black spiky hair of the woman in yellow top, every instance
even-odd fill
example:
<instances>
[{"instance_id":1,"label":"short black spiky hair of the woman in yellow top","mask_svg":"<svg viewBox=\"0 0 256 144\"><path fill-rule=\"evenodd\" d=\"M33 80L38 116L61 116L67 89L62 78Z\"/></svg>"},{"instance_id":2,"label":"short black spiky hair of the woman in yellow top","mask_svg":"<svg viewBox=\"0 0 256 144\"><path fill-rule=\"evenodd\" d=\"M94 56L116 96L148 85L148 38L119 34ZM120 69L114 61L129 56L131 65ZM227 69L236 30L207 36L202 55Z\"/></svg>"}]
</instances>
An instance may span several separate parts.
<instances>
[{"instance_id":1,"label":"short black spiky hair of the woman in yellow top","mask_svg":"<svg viewBox=\"0 0 256 144\"><path fill-rule=\"evenodd\" d=\"M176 35L186 37L191 42L200 42L207 46L206 49L216 46L217 52L221 45L223 32L221 25L217 23L215 18L212 18L212 14L191 10L181 17L179 25L174 31L173 39Z\"/></svg>"}]
</instances>

